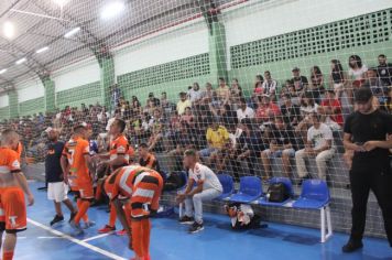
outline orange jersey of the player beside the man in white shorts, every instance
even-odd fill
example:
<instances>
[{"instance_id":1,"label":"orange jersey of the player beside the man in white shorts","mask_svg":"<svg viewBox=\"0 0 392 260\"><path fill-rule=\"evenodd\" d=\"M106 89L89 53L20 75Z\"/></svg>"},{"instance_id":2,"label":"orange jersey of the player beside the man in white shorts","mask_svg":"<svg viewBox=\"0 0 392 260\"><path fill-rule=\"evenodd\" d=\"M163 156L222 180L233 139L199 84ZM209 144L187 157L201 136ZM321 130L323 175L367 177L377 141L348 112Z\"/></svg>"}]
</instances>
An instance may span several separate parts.
<instances>
[{"instance_id":1,"label":"orange jersey of the player beside the man in white shorts","mask_svg":"<svg viewBox=\"0 0 392 260\"><path fill-rule=\"evenodd\" d=\"M85 155L89 155L89 143L83 138L70 139L64 147L63 156L67 158L69 173L76 177L77 185L91 182Z\"/></svg>"}]
</instances>

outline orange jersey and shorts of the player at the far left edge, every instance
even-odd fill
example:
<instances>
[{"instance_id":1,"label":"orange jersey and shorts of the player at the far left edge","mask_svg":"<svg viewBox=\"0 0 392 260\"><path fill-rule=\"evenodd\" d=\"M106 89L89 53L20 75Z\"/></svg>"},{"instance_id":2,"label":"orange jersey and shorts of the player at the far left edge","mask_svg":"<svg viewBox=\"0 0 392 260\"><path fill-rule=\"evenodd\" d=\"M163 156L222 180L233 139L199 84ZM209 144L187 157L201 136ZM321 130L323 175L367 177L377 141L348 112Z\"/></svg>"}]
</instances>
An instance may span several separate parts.
<instances>
[{"instance_id":1,"label":"orange jersey and shorts of the player at the far left edge","mask_svg":"<svg viewBox=\"0 0 392 260\"><path fill-rule=\"evenodd\" d=\"M12 149L0 148L0 175L19 172L21 172L19 154ZM18 185L0 187L1 231L23 231L26 226L26 207L22 188Z\"/></svg>"}]
</instances>

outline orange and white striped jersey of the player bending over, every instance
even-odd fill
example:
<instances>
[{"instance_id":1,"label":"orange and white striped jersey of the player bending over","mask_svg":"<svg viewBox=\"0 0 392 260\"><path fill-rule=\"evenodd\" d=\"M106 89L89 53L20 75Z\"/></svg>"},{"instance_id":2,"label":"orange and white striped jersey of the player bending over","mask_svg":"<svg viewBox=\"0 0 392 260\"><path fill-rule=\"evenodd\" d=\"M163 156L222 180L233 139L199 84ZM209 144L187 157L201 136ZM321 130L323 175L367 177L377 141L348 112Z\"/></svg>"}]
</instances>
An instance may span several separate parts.
<instances>
[{"instance_id":1,"label":"orange and white striped jersey of the player bending over","mask_svg":"<svg viewBox=\"0 0 392 260\"><path fill-rule=\"evenodd\" d=\"M162 187L163 180L157 172L139 165L116 171L105 183L110 199L130 198L133 218L148 217L151 210L157 210Z\"/></svg>"}]
</instances>

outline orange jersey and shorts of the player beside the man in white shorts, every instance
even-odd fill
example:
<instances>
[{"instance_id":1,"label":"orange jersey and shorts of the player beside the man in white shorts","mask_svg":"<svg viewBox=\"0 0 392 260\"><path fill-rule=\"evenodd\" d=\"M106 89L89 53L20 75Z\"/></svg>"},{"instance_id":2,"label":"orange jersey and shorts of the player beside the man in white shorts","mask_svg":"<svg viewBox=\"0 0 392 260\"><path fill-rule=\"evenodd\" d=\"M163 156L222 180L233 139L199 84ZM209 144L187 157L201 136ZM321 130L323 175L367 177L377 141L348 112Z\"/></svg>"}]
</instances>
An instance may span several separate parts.
<instances>
[{"instance_id":1,"label":"orange jersey and shorts of the player beside the man in white shorts","mask_svg":"<svg viewBox=\"0 0 392 260\"><path fill-rule=\"evenodd\" d=\"M83 138L70 139L64 147L63 156L69 164L69 185L78 191L81 198L92 198L92 178L89 174L85 155L89 155L89 143Z\"/></svg>"}]
</instances>

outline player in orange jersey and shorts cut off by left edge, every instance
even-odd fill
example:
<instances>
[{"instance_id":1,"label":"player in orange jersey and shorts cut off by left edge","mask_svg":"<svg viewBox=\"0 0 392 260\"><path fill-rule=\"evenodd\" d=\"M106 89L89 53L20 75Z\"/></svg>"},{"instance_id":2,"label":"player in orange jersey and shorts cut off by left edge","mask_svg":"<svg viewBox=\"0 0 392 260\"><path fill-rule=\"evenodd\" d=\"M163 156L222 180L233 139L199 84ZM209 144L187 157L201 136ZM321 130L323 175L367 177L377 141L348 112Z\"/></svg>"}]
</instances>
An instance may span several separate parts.
<instances>
[{"instance_id":1,"label":"player in orange jersey and shorts cut off by left edge","mask_svg":"<svg viewBox=\"0 0 392 260\"><path fill-rule=\"evenodd\" d=\"M33 194L21 171L19 154L19 134L13 130L1 133L0 147L0 207L3 216L0 217L0 241L3 248L2 259L13 259L17 245L17 232L26 229L26 208L24 194L28 195L29 206L34 204ZM2 234L6 239L2 242Z\"/></svg>"}]
</instances>

